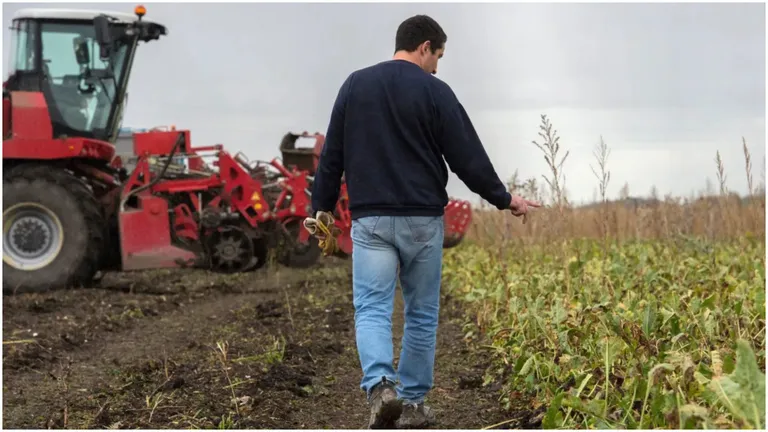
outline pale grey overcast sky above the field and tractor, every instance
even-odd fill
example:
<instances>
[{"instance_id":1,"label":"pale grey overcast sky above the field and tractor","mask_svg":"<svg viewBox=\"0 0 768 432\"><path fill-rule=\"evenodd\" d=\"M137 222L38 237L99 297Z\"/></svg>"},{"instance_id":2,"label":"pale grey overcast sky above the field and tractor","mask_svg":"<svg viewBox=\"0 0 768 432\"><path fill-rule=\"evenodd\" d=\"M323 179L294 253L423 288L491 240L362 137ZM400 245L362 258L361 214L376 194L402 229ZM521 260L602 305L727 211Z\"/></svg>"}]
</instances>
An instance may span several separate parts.
<instances>
[{"instance_id":1,"label":"pale grey overcast sky above the field and tractor","mask_svg":"<svg viewBox=\"0 0 768 432\"><path fill-rule=\"evenodd\" d=\"M4 76L10 19L3 4ZM133 3L34 4L131 12ZM597 188L590 164L611 147L609 195L688 195L715 177L744 192L741 137L756 181L765 160L763 4L158 4L168 26L140 47L124 126L175 124L195 145L251 159L279 155L288 131L325 133L339 86L391 58L400 22L417 13L448 34L438 77L456 92L507 179L546 173L537 139L547 114L571 152L575 201ZM397 175L397 173L393 173ZM455 177L454 196L477 201Z\"/></svg>"}]
</instances>

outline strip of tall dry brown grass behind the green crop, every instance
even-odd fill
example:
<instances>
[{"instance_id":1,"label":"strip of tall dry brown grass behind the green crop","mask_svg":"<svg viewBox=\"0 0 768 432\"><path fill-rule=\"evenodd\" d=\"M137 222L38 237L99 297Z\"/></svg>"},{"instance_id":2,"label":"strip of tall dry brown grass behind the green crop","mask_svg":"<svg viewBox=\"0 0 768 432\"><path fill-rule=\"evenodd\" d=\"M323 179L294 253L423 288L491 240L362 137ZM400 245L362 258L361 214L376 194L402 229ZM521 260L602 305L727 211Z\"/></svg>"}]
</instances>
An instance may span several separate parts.
<instances>
[{"instance_id":1,"label":"strip of tall dry brown grass behind the green crop","mask_svg":"<svg viewBox=\"0 0 768 432\"><path fill-rule=\"evenodd\" d=\"M765 184L755 185L752 157L746 140L742 139L744 168L749 196L742 198L730 193L727 175L720 152L715 156L715 169L719 194L700 193L695 197L656 196L631 198L629 186L624 185L621 197L610 201L606 189L611 180L610 149L602 137L594 155L592 166L600 191L598 202L582 207L572 206L565 196L563 163L568 152L562 152L557 131L549 119L542 115L543 142L534 141L545 155L550 173L544 176L548 197L536 179L519 181L517 175L508 182L510 192L546 201L549 206L534 211L526 225L509 223L513 217L507 212L489 209L485 205L475 210L467 240L482 246L499 245L503 239L517 244L560 242L566 239L591 238L605 240L652 240L675 236L696 236L709 240L725 240L738 236L765 236ZM763 168L764 169L764 168ZM500 232L501 231L501 232Z\"/></svg>"}]
</instances>

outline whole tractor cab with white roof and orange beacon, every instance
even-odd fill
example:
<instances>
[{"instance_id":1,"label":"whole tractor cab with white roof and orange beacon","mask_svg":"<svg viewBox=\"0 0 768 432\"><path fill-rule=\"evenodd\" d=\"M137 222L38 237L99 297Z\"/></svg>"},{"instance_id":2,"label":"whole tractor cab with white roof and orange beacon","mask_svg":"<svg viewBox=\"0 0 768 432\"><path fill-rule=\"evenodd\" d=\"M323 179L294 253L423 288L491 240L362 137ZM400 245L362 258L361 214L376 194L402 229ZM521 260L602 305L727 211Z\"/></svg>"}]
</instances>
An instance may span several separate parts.
<instances>
[{"instance_id":1,"label":"whole tractor cab with white roof and orange beacon","mask_svg":"<svg viewBox=\"0 0 768 432\"><path fill-rule=\"evenodd\" d=\"M139 41L166 34L135 14L77 9L23 9L11 24L9 92L41 92L53 137L113 142ZM13 104L13 101L10 102ZM5 129L5 128L4 128Z\"/></svg>"}]
</instances>

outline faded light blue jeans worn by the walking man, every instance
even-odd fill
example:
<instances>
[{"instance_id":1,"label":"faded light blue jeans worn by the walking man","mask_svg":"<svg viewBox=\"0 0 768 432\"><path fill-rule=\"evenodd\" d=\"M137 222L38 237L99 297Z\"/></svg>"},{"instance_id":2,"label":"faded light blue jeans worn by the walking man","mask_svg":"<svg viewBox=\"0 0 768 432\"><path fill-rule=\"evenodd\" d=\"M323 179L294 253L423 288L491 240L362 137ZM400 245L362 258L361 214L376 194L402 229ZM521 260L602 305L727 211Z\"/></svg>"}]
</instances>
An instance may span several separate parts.
<instances>
[{"instance_id":1,"label":"faded light blue jeans worn by the walking man","mask_svg":"<svg viewBox=\"0 0 768 432\"><path fill-rule=\"evenodd\" d=\"M422 402L432 388L443 235L442 216L372 216L352 223L355 331L363 369L360 387L368 395L382 377L397 383L398 396L405 402ZM405 329L395 374L392 309L398 270Z\"/></svg>"}]
</instances>

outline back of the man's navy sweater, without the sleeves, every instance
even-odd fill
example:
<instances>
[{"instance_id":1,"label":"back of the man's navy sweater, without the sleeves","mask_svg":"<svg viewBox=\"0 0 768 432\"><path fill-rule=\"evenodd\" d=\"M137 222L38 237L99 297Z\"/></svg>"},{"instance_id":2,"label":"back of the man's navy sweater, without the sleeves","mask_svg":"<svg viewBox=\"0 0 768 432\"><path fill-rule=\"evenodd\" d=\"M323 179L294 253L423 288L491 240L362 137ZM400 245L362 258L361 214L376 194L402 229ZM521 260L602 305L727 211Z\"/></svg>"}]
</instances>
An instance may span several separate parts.
<instances>
[{"instance_id":1,"label":"back of the man's navy sweater, without the sleeves","mask_svg":"<svg viewBox=\"0 0 768 432\"><path fill-rule=\"evenodd\" d=\"M343 140L354 218L443 214L448 171L435 136L441 85L404 60L350 76Z\"/></svg>"}]
</instances>

